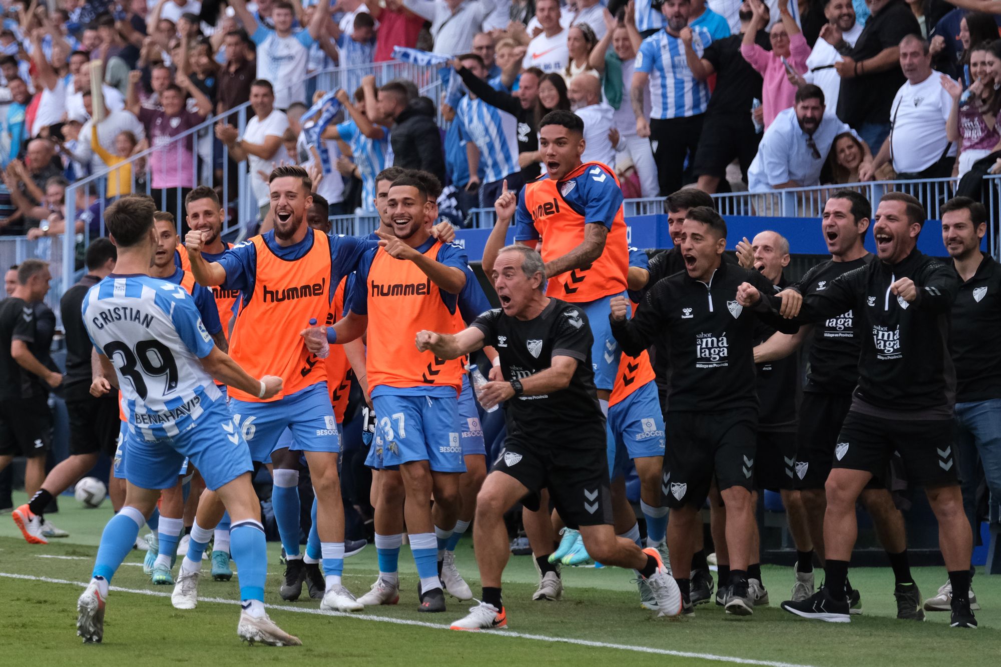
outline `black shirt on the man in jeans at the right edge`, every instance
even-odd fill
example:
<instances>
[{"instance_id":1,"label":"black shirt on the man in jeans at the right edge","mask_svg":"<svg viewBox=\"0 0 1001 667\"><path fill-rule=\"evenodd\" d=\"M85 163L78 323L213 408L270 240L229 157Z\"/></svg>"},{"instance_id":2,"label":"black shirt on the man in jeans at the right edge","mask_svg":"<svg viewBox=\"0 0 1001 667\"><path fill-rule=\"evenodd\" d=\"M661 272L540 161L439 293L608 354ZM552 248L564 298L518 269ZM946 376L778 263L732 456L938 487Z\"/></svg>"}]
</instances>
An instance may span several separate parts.
<instances>
[{"instance_id":1,"label":"black shirt on the man in jeans at the right edge","mask_svg":"<svg viewBox=\"0 0 1001 667\"><path fill-rule=\"evenodd\" d=\"M959 285L952 304L949 352L956 367L956 403L1001 399L1001 264L985 254Z\"/></svg>"}]
</instances>

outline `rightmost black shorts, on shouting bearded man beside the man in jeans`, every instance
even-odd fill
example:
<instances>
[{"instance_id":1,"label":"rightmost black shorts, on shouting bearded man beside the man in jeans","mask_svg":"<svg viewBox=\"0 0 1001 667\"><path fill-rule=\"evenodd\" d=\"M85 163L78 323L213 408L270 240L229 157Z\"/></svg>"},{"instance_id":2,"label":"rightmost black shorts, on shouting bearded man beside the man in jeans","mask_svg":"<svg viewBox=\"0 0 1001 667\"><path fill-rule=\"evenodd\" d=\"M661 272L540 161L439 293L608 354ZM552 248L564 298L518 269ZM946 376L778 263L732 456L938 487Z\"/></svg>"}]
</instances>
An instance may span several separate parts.
<instances>
[{"instance_id":1,"label":"rightmost black shorts, on shouting bearded man beside the man in jeans","mask_svg":"<svg viewBox=\"0 0 1001 667\"><path fill-rule=\"evenodd\" d=\"M953 420L888 420L848 413L834 446L834 468L883 475L894 452L913 486L959 484Z\"/></svg>"}]
</instances>

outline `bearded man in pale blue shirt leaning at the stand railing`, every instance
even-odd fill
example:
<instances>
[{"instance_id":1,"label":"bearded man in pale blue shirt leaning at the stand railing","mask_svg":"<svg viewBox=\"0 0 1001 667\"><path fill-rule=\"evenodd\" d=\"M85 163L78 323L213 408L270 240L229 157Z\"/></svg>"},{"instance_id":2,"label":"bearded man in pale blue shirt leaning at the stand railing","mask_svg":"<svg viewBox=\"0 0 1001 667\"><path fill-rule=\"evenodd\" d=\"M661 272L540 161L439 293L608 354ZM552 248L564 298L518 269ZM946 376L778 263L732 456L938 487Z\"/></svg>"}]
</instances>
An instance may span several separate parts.
<instances>
[{"instance_id":1,"label":"bearded man in pale blue shirt leaning at the stand railing","mask_svg":"<svg viewBox=\"0 0 1001 667\"><path fill-rule=\"evenodd\" d=\"M779 112L758 146L758 154L748 169L748 189L767 192L784 187L820 184L820 172L834 138L842 132L859 135L824 106L824 91L813 84L801 86L796 104ZM859 178L869 180L873 156L862 141L865 156Z\"/></svg>"}]
</instances>

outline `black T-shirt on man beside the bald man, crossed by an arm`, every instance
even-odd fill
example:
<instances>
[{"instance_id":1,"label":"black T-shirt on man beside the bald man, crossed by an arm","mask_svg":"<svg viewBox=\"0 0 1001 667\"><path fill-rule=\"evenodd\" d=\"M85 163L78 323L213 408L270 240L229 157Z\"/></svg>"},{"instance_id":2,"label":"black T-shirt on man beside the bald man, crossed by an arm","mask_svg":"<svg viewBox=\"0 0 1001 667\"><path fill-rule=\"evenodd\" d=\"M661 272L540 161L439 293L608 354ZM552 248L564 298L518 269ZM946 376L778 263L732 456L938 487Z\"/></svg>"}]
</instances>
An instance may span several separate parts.
<instances>
[{"instance_id":1,"label":"black T-shirt on man beside the bald man, crossed by an arm","mask_svg":"<svg viewBox=\"0 0 1001 667\"><path fill-rule=\"evenodd\" d=\"M876 255L869 253L851 261L828 259L808 270L796 288L804 296L822 291L843 273L865 266ZM805 392L851 394L859 384L859 354L862 335L855 330L854 308L818 321L813 327L810 369Z\"/></svg>"}]
</instances>

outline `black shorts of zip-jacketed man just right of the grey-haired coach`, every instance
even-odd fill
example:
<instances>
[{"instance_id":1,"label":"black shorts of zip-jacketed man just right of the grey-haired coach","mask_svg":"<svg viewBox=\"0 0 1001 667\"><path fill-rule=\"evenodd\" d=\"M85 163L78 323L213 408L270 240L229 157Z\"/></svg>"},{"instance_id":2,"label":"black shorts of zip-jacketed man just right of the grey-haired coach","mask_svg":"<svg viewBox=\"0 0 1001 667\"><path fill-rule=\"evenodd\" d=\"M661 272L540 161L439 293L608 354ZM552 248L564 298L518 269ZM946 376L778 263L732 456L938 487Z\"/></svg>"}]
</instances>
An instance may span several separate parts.
<instances>
[{"instance_id":1,"label":"black shorts of zip-jacketed man just right of the grey-haired coach","mask_svg":"<svg viewBox=\"0 0 1001 667\"><path fill-rule=\"evenodd\" d=\"M716 480L720 491L752 488L758 412L749 408L725 413L669 412L664 454L667 507L701 508Z\"/></svg>"}]
</instances>

